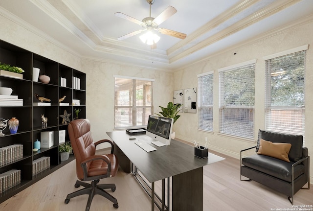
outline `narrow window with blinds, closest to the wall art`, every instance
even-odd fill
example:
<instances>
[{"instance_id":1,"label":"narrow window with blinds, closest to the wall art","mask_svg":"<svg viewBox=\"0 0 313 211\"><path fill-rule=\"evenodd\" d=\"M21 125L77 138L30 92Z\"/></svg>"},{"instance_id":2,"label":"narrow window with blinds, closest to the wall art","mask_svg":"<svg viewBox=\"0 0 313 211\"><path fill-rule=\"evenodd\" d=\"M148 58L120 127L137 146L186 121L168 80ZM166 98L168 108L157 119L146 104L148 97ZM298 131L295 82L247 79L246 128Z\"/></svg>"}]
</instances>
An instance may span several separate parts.
<instances>
[{"instance_id":1,"label":"narrow window with blinds, closest to the wall art","mask_svg":"<svg viewBox=\"0 0 313 211\"><path fill-rule=\"evenodd\" d=\"M213 72L198 75L198 129L213 131Z\"/></svg>"}]
</instances>

